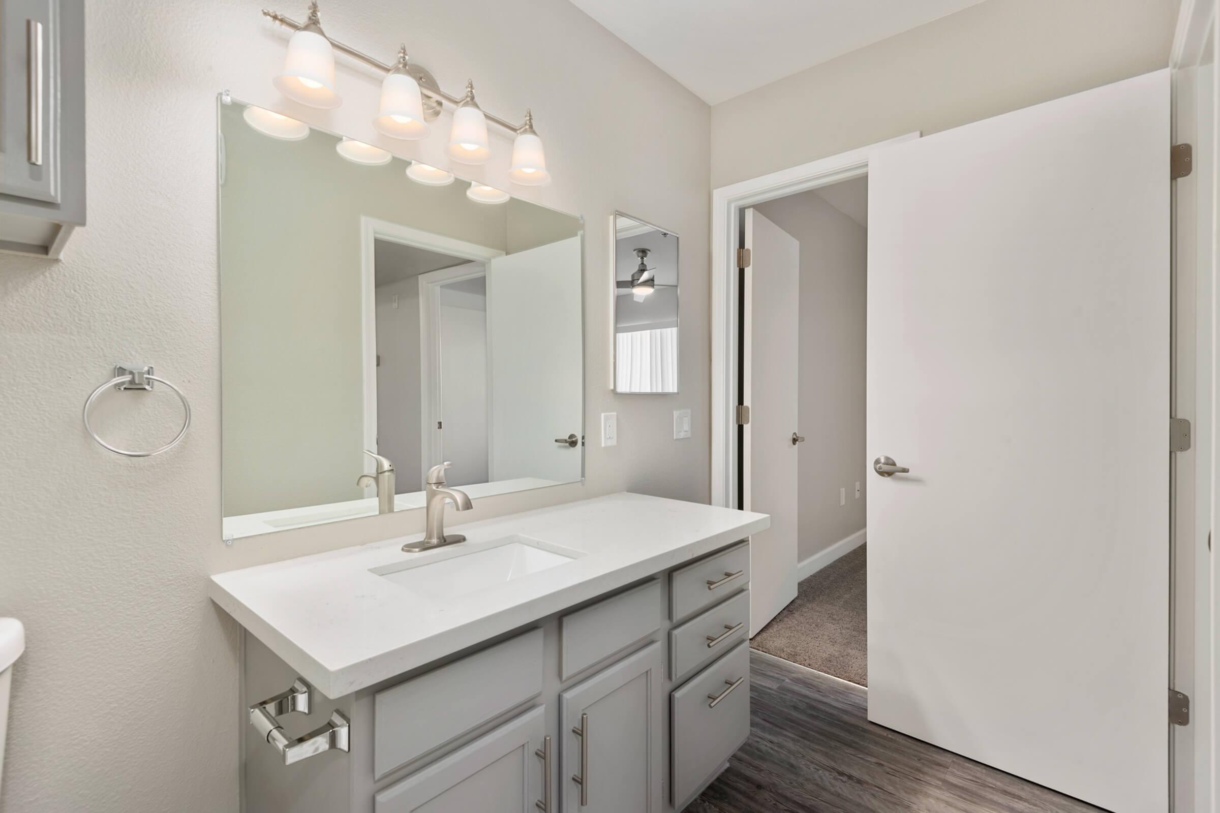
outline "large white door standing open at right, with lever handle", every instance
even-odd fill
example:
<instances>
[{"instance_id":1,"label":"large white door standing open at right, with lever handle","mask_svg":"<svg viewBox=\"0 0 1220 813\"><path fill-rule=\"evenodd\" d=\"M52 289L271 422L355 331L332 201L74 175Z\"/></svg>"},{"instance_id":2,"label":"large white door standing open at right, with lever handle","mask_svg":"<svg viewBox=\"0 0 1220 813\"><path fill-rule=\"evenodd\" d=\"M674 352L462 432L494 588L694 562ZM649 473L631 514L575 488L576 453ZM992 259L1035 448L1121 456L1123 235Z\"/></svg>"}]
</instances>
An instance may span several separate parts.
<instances>
[{"instance_id":1,"label":"large white door standing open at right, with lever handle","mask_svg":"<svg viewBox=\"0 0 1220 813\"><path fill-rule=\"evenodd\" d=\"M1168 807L1169 74L869 166L869 719Z\"/></svg>"}]
</instances>

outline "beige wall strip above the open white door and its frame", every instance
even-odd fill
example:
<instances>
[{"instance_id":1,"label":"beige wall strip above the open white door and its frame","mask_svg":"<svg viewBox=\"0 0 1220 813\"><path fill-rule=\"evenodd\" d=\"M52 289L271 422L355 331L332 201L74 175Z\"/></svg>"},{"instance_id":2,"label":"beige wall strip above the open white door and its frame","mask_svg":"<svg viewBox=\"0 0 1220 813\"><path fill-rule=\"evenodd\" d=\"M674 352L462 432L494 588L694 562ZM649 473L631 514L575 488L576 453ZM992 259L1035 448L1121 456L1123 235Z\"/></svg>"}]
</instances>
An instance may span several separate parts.
<instances>
[{"instance_id":1,"label":"beige wall strip above the open white door and its frame","mask_svg":"<svg viewBox=\"0 0 1220 813\"><path fill-rule=\"evenodd\" d=\"M711 185L1163 68L1177 0L987 0L711 108Z\"/></svg>"}]
</instances>

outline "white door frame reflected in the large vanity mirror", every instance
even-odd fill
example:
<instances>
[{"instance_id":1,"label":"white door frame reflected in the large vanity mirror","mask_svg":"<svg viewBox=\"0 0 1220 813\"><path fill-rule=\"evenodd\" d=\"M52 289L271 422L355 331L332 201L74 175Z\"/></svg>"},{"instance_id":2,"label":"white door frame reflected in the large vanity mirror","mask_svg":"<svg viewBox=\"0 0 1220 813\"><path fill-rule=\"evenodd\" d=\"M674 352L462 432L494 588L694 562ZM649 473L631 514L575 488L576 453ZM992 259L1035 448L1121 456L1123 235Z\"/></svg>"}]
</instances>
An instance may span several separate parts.
<instances>
[{"instance_id":1,"label":"white door frame reflected in the large vanity mirror","mask_svg":"<svg viewBox=\"0 0 1220 813\"><path fill-rule=\"evenodd\" d=\"M360 347L364 389L364 439L365 449L377 451L377 240L448 254L459 260L488 261L503 257L499 249L447 238L422 229L412 229L401 223L382 221L368 215L360 216ZM422 363L422 360L421 360ZM421 410L422 413L422 410ZM420 439L421 449L423 438ZM365 457L365 472L373 473L375 462ZM377 496L377 489L365 488L365 496Z\"/></svg>"}]
</instances>

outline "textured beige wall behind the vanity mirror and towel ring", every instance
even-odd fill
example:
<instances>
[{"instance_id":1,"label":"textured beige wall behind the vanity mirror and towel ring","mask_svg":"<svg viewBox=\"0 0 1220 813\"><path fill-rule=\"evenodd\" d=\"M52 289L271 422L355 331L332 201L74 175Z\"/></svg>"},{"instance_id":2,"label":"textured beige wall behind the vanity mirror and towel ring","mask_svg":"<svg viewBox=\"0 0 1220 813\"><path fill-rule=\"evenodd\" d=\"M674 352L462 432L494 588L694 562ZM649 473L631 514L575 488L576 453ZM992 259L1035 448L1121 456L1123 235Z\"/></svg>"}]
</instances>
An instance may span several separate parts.
<instances>
[{"instance_id":1,"label":"textured beige wall behind the vanity mirror and towel ring","mask_svg":"<svg viewBox=\"0 0 1220 813\"><path fill-rule=\"evenodd\" d=\"M207 600L207 575L418 531L422 516L221 541L216 94L432 163L445 163L445 121L423 144L378 139L377 79L346 63L338 110L285 104L271 77L287 32L259 4L85 7L89 224L62 262L0 256L0 379L26 383L0 389L0 614L28 630L0 811L235 813L239 635ZM405 39L451 91L473 77L492 112L532 106L555 183L522 194L587 218L586 422L616 411L619 445L586 447L583 485L479 500L460 519L623 489L706 500L706 105L567 0L328 0L322 13L336 38L386 59ZM639 108L651 126L626 126L623 111ZM493 138L495 160L475 174L509 188L510 143ZM610 392L615 208L687 239L681 396ZM84 434L84 397L123 360L155 364L190 396L195 419L172 452L122 458ZM172 399L127 395L99 411L109 436L167 439ZM672 440L677 406L693 411L691 440Z\"/></svg>"}]
</instances>

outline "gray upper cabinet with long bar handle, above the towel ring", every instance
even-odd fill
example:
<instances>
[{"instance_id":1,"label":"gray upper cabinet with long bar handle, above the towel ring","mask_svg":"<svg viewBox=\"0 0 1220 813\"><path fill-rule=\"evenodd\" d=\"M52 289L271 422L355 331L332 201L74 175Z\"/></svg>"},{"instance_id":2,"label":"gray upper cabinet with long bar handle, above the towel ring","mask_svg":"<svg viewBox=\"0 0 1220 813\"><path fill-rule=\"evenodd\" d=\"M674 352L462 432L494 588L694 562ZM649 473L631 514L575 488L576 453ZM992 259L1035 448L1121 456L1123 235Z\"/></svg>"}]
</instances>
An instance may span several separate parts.
<instances>
[{"instance_id":1,"label":"gray upper cabinet with long bar handle, above the towel ring","mask_svg":"<svg viewBox=\"0 0 1220 813\"><path fill-rule=\"evenodd\" d=\"M84 2L0 0L0 251L84 225Z\"/></svg>"}]
</instances>

